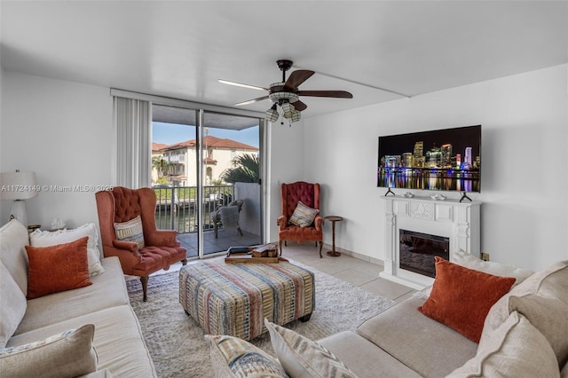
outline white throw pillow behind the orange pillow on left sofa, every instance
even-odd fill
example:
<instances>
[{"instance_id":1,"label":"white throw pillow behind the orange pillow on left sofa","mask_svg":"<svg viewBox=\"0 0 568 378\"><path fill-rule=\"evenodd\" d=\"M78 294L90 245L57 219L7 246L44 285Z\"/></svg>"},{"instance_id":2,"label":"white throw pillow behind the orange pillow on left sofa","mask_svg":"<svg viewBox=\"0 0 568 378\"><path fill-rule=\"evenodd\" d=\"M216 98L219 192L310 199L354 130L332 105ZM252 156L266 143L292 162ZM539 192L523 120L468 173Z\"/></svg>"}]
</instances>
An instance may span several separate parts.
<instances>
[{"instance_id":1,"label":"white throw pillow behind the orange pillow on left sofa","mask_svg":"<svg viewBox=\"0 0 568 378\"><path fill-rule=\"evenodd\" d=\"M41 231L36 230L29 235L32 247L51 247L59 244L70 243L79 240L85 236L89 237L87 241L87 257L89 259L89 275L91 277L98 276L105 272L100 264L99 253L99 232L94 223L83 224L77 228L58 230L58 231Z\"/></svg>"}]
</instances>

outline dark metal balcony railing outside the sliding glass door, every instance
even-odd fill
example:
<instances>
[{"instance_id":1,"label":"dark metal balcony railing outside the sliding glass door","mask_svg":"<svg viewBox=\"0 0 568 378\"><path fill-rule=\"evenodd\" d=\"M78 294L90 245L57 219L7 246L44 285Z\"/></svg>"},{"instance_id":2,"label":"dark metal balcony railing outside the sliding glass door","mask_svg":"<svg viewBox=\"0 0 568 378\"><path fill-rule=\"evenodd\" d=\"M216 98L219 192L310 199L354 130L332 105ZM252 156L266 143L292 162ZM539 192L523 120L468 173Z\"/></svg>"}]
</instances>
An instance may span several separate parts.
<instances>
[{"instance_id":1,"label":"dark metal balcony railing outside the sliding glass door","mask_svg":"<svg viewBox=\"0 0 568 378\"><path fill-rule=\"evenodd\" d=\"M198 220L196 186L154 186L156 193L156 226L160 230L179 233L197 232L198 224L204 230L213 230L210 213L217 206L233 201L233 185L203 186L201 222Z\"/></svg>"}]
</instances>

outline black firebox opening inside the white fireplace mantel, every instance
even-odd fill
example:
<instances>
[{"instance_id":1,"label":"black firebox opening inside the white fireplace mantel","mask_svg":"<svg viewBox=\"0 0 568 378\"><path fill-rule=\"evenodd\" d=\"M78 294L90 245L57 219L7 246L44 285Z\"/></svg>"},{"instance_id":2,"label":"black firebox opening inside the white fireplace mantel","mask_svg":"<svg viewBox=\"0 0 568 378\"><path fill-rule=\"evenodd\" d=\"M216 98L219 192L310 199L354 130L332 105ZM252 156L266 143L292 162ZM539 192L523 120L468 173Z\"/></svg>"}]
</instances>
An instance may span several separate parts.
<instances>
[{"instance_id":1,"label":"black firebox opening inside the white fireplace mantel","mask_svg":"<svg viewBox=\"0 0 568 378\"><path fill-rule=\"evenodd\" d=\"M436 277L435 256L449 260L450 238L428 233L398 230L398 267L406 271Z\"/></svg>"}]
</instances>

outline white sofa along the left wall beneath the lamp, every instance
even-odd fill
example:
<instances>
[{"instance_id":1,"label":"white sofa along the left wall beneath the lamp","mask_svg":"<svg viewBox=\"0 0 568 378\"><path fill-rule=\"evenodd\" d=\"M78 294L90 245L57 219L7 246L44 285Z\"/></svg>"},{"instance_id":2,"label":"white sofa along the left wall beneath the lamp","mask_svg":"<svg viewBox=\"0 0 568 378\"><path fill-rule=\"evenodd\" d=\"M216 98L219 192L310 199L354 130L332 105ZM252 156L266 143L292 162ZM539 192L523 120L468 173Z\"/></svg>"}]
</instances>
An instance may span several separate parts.
<instances>
[{"instance_id":1,"label":"white sofa along the left wall beneath the lamp","mask_svg":"<svg viewBox=\"0 0 568 378\"><path fill-rule=\"evenodd\" d=\"M0 308L3 309L3 318L0 319L2 375L30 376L31 372L35 372L33 375L36 376L51 374L60 377L71 373L66 371L62 374L51 369L64 369L65 364L69 364L79 369L78 374L75 372L71 376L156 376L138 319L130 307L121 265L116 257L101 260L106 272L91 276L92 285L28 299L21 304L25 309L21 317L17 311L8 311L18 307L15 303L18 303L22 294L24 297L27 295L28 255L25 246L28 244L28 230L18 221L12 220L0 228L0 268L3 273L0 287ZM13 326L8 323L19 318L19 322L15 323L16 329L12 330ZM83 327L85 325L94 325L92 348L88 347L85 351L90 356L77 356L79 348L58 350L58 344L51 339L47 344L51 345L52 350L45 343L29 348L33 345L29 343L44 341L70 329L84 329L88 334L90 327ZM22 345L28 347L22 348ZM79 361L83 357L85 364L82 367ZM90 359L94 359L94 367ZM93 369L96 371L93 372Z\"/></svg>"}]
</instances>

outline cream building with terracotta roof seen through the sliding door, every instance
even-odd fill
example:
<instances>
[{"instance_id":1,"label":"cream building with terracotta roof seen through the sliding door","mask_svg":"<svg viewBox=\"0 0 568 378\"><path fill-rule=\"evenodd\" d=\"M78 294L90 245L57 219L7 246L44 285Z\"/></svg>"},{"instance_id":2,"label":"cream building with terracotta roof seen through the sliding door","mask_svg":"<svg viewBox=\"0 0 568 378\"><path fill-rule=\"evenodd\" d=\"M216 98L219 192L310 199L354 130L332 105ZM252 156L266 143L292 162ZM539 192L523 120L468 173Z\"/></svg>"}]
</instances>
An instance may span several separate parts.
<instances>
[{"instance_id":1,"label":"cream building with terracotta roof seen through the sliding door","mask_svg":"<svg viewBox=\"0 0 568 378\"><path fill-rule=\"evenodd\" d=\"M203 175L204 185L220 181L225 169L233 168L234 159L243 154L258 154L258 148L233 139L207 136L203 141ZM155 151L154 151L154 148ZM152 144L152 155L162 154L166 161L172 163L170 168L170 184L174 186L197 185L197 141L195 139L169 146ZM158 177L156 169L152 169L152 180Z\"/></svg>"}]
</instances>

